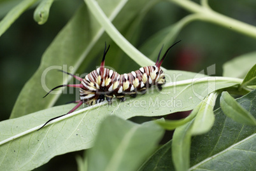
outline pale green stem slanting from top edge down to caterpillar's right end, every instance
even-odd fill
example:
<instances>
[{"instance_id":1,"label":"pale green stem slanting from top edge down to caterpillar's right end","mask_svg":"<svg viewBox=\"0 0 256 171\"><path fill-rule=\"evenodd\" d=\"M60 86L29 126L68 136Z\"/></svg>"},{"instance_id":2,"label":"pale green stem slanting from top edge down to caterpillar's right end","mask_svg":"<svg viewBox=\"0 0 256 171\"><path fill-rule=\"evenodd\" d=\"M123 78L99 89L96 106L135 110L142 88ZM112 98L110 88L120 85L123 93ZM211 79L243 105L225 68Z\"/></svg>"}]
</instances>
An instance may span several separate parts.
<instances>
[{"instance_id":1,"label":"pale green stem slanting from top edge down to caterpillar's right end","mask_svg":"<svg viewBox=\"0 0 256 171\"><path fill-rule=\"evenodd\" d=\"M103 10L99 7L99 4L95 0L84 0L87 4L92 15L97 19L99 24L105 29L108 35L118 44L118 46L132 58L137 64L141 66L155 64L152 60L147 58L143 53L134 48L127 39L120 34L120 32L115 28L115 26L110 22L108 17L104 14Z\"/></svg>"}]
</instances>

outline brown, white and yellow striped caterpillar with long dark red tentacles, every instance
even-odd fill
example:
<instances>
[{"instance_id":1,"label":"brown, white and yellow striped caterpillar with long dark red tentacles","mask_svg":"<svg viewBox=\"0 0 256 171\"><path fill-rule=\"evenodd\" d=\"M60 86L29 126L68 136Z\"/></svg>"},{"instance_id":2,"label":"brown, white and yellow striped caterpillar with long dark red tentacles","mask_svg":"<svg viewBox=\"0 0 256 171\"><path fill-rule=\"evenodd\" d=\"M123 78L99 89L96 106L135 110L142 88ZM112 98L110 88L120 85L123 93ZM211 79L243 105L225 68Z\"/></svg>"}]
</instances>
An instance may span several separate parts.
<instances>
[{"instance_id":1,"label":"brown, white and yellow striped caterpillar with long dark red tentacles","mask_svg":"<svg viewBox=\"0 0 256 171\"><path fill-rule=\"evenodd\" d=\"M152 85L155 85L159 90L162 90L162 85L166 83L166 79L164 76L164 71L160 69L160 66L162 65L168 51L179 42L180 41L170 46L166 50L166 53L164 53L161 60L159 60L160 53L162 51L161 48L155 65L141 67L137 71L132 71L128 74L118 74L117 72L104 67L106 53L110 49L110 45L108 48L106 48L105 43L103 59L99 68L87 74L85 78L80 78L70 74L69 72L62 71L70 76L73 76L75 79L78 79L81 83L76 85L59 85L52 88L50 92L56 88L64 86L80 88L80 100L76 101L78 104L76 104L76 106L73 107L73 109L71 109L68 113L66 113L69 114L73 113L73 111L78 109L78 107L80 107L83 103L92 106L99 102L103 102L106 98L108 103L111 104L114 96L121 102L124 102L125 95L136 97L138 93L146 93L146 89L150 88ZM48 92L44 97L46 97L50 92ZM45 127L45 125L50 121L60 118L66 114L62 114L61 116L48 120L41 128ZM39 128L39 130L41 128Z\"/></svg>"}]
</instances>

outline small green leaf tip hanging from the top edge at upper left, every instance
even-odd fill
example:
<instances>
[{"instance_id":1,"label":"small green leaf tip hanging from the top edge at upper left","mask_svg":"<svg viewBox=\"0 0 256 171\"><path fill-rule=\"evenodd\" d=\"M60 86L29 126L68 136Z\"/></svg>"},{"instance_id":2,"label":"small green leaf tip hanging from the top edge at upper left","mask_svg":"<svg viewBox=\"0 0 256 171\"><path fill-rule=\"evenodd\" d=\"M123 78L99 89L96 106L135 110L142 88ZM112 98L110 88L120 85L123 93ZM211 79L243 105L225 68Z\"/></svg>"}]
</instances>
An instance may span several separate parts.
<instances>
[{"instance_id":1,"label":"small green leaf tip hanging from the top edge at upper left","mask_svg":"<svg viewBox=\"0 0 256 171\"><path fill-rule=\"evenodd\" d=\"M34 20L38 24L45 24L48 19L49 11L54 0L43 0L34 11Z\"/></svg>"}]
</instances>

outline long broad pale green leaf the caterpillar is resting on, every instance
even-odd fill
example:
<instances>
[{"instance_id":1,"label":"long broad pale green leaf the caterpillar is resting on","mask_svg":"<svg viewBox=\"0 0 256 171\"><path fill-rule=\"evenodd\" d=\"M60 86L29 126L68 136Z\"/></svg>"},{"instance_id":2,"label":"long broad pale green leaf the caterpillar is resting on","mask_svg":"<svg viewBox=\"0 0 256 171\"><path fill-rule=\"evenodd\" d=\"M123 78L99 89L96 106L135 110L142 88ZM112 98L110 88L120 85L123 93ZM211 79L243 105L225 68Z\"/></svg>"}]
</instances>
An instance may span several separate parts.
<instances>
[{"instance_id":1,"label":"long broad pale green leaf the caterpillar is resting on","mask_svg":"<svg viewBox=\"0 0 256 171\"><path fill-rule=\"evenodd\" d=\"M97 128L107 116L128 119L133 116L162 116L176 111L194 109L212 90L236 85L239 80L224 81L200 78L167 84L162 92L155 89L136 99L106 102L85 107L52 121L37 132L50 118L67 113L75 104L52 107L26 116L0 123L0 170L31 170L46 163L53 156L92 147ZM208 92L210 91L210 92ZM53 124L55 123L55 124ZM29 146L27 146L28 139ZM50 145L49 145L50 144ZM16 153L25 149L22 153ZM26 156L21 157L22 156ZM17 163L11 165L11 161ZM26 162L31 161L31 162Z\"/></svg>"}]
</instances>

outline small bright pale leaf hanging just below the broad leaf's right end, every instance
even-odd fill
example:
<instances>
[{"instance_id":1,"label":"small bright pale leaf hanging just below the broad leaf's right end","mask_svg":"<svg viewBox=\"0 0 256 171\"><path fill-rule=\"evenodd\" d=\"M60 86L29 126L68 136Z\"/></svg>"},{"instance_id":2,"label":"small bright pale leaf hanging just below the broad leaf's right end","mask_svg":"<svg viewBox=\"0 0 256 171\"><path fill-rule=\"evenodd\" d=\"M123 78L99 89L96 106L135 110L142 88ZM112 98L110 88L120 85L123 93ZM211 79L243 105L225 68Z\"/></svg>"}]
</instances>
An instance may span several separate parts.
<instances>
[{"instance_id":1,"label":"small bright pale leaf hanging just below the broad leaf's right end","mask_svg":"<svg viewBox=\"0 0 256 171\"><path fill-rule=\"evenodd\" d=\"M211 130L215 120L213 114L213 107L215 106L215 100L217 99L217 93L210 93L201 103L201 107L196 115L194 124L192 127L192 135L199 135Z\"/></svg>"}]
</instances>

